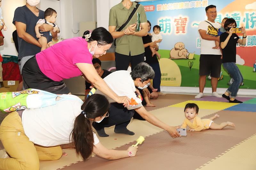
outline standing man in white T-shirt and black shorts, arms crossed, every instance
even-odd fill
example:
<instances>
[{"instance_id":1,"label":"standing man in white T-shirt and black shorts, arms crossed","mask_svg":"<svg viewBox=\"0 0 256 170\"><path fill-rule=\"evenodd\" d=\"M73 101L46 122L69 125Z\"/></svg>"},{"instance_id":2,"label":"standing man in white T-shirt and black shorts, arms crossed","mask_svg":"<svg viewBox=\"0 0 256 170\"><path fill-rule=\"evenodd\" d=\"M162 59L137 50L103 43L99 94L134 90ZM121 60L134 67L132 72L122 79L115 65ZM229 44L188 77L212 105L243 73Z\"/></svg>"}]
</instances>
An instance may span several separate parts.
<instances>
[{"instance_id":1,"label":"standing man in white T-shirt and black shorts, arms crossed","mask_svg":"<svg viewBox=\"0 0 256 170\"><path fill-rule=\"evenodd\" d=\"M199 64L199 90L200 93L195 98L204 96L204 86L206 76L211 75L212 96L221 97L217 91L218 78L221 70L221 52L220 49L214 49L215 41L220 42L218 29L220 24L215 22L217 17L216 6L209 5L205 8L207 20L202 21L198 26L198 32L201 40L201 55Z\"/></svg>"}]
</instances>

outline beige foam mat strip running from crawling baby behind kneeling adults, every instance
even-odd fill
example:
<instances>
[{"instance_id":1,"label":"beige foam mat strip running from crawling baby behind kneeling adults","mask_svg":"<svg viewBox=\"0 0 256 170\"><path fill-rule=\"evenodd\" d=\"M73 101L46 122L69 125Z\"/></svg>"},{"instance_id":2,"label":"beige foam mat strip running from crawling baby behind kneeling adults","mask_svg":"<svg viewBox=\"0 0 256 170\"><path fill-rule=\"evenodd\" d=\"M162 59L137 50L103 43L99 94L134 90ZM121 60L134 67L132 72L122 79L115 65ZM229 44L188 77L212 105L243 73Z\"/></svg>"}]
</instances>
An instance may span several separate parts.
<instances>
[{"instance_id":1,"label":"beige foam mat strip running from crawling baby behind kneeling adults","mask_svg":"<svg viewBox=\"0 0 256 170\"><path fill-rule=\"evenodd\" d=\"M209 110L209 109L200 109L199 117L203 117L206 115L213 114L218 112L219 110ZM158 119L163 121L170 126L178 126L182 124L185 119L184 108L181 107L164 107L156 110L150 111L151 114L155 115ZM103 144L108 149L113 149L124 144L130 143L138 139L139 136L149 136L155 133L162 131L160 129L147 121L140 120L132 120L128 125L127 129L133 131L135 135L124 135L124 134L116 134L114 133L114 126L110 128L105 128L105 132L109 135L109 137L99 137L100 143ZM94 130L95 131L95 130ZM172 137L170 136L170 140ZM40 169L44 170L52 170L62 168L64 166L68 166L72 163L76 163L77 161L81 161L82 158L76 155L74 149L64 149L65 152L68 153L68 156L62 157L57 161L41 161Z\"/></svg>"}]
</instances>

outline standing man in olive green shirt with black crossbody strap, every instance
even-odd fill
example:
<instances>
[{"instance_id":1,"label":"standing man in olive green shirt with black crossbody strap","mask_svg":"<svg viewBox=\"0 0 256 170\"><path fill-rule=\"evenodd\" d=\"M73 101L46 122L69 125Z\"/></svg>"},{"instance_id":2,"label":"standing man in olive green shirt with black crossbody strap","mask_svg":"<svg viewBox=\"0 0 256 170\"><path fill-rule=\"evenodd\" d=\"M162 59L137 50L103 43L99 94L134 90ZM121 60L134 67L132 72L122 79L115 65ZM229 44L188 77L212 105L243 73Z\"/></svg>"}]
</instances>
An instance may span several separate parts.
<instances>
[{"instance_id":1,"label":"standing man in olive green shirt with black crossbody strap","mask_svg":"<svg viewBox=\"0 0 256 170\"><path fill-rule=\"evenodd\" d=\"M144 61L144 45L142 38L148 34L147 16L143 5L140 4L132 19L123 30L117 32L127 20L133 9L136 8L134 0L123 0L112 7L109 12L109 32L116 39L116 70L127 70L131 62L132 69ZM136 32L137 13L140 13L141 29Z\"/></svg>"}]
</instances>

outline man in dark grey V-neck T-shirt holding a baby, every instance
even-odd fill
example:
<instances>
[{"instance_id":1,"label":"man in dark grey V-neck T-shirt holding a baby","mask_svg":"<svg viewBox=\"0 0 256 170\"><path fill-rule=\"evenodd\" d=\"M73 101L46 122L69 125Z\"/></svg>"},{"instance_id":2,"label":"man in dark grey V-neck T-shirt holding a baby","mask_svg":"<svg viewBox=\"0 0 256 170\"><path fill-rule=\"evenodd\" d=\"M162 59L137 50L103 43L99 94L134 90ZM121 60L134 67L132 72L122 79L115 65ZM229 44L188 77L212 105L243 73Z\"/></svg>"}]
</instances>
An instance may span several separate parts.
<instances>
[{"instance_id":1,"label":"man in dark grey V-neck T-shirt holding a baby","mask_svg":"<svg viewBox=\"0 0 256 170\"><path fill-rule=\"evenodd\" d=\"M40 0L26 0L26 5L18 7L14 12L12 23L16 26L19 44L19 66L20 74L24 64L33 56L41 51L41 45L36 38L35 26L39 19L44 18L44 11L36 8ZM52 32L53 27L44 24L39 27L40 31L51 31L52 37L57 33ZM23 82L23 90L28 86Z\"/></svg>"}]
</instances>

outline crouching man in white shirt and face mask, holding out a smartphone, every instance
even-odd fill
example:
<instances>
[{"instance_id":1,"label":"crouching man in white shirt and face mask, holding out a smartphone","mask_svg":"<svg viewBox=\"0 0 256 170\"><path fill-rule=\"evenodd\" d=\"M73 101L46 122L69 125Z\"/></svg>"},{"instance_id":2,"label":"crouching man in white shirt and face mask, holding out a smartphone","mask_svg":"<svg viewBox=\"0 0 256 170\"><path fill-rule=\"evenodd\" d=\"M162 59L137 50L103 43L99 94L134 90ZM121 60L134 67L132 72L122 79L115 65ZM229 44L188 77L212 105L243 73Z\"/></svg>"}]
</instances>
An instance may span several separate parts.
<instances>
[{"instance_id":1,"label":"crouching man in white shirt and face mask, holding out a smartphone","mask_svg":"<svg viewBox=\"0 0 256 170\"><path fill-rule=\"evenodd\" d=\"M141 99L138 99L136 96L136 92L138 92L138 90L136 90L135 86L139 89L145 89L150 85L150 81L154 77L155 71L151 66L147 63L139 63L134 67L131 73L126 70L119 70L109 74L103 80L118 96L125 95L130 99L133 98L137 103L139 103L140 100L141 103ZM143 106L135 108L134 110L149 123L167 130L173 138L180 136L176 130L179 127L171 127L165 124L154 115L147 112ZM110 109L108 110L109 117L100 122L93 122L92 126L96 129L100 137L108 137L109 135L105 133L104 128L114 125L115 133L134 135L134 132L126 128L134 115L134 110L128 110L119 103L111 103Z\"/></svg>"}]
</instances>

